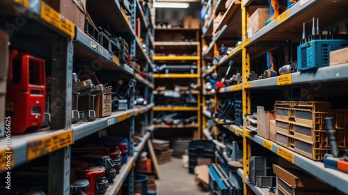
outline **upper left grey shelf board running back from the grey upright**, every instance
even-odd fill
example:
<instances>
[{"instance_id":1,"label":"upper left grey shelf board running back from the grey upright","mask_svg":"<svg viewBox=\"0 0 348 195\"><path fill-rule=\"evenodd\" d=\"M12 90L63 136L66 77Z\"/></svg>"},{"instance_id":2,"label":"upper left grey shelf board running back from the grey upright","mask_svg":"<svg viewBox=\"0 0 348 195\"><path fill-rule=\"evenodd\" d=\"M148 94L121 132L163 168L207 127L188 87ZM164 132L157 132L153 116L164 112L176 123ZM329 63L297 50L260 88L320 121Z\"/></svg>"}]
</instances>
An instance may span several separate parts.
<instances>
[{"instance_id":1,"label":"upper left grey shelf board running back from the grey upright","mask_svg":"<svg viewBox=\"0 0 348 195\"><path fill-rule=\"evenodd\" d=\"M112 61L111 53L104 49L98 42L90 38L86 33L78 28L74 37L74 58L79 57L88 63L98 61L102 64L102 69L121 70L129 76L134 75L134 70L123 63L116 64ZM115 55L113 55L115 56ZM117 57L116 57L117 58ZM101 60L103 59L103 61ZM99 68L99 67L98 67Z\"/></svg>"}]
</instances>

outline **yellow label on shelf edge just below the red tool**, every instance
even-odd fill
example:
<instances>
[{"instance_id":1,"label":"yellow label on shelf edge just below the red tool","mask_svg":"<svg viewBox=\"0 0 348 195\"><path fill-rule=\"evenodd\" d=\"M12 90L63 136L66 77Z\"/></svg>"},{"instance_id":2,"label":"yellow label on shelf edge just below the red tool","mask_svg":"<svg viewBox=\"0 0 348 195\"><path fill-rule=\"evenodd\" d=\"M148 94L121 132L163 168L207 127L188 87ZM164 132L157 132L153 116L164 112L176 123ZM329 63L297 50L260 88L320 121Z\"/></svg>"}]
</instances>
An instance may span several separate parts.
<instances>
[{"instance_id":1,"label":"yellow label on shelf edge just below the red tool","mask_svg":"<svg viewBox=\"0 0 348 195\"><path fill-rule=\"evenodd\" d=\"M72 144L72 130L65 130L61 134L44 137L27 144L27 159L32 160L42 155L52 153Z\"/></svg>"}]
</instances>

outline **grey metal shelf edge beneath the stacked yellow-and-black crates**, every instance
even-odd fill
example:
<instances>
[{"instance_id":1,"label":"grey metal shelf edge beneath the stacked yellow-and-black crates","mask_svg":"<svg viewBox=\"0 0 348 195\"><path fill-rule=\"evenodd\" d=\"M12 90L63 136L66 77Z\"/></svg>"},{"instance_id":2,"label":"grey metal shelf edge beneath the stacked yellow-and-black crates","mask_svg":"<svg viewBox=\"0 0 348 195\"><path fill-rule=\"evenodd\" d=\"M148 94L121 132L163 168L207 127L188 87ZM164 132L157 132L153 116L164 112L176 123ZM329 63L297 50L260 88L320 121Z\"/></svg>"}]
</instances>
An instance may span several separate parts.
<instances>
[{"instance_id":1,"label":"grey metal shelf edge beneath the stacked yellow-and-black crates","mask_svg":"<svg viewBox=\"0 0 348 195\"><path fill-rule=\"evenodd\" d=\"M258 135L252 134L249 137L255 143L263 146L264 140L269 141L268 139L264 139ZM272 146L272 152L278 155L278 149L281 148L287 153L292 153L294 155L294 164L299 166L301 169L313 175L315 178L319 178L329 185L336 187L341 192L348 192L348 174L343 173L341 171L336 171L333 169L326 169L322 162L316 162L312 159L304 157L303 155L299 155L298 153L293 152L292 150L288 150L282 146L278 146L276 143L269 141Z\"/></svg>"}]
</instances>

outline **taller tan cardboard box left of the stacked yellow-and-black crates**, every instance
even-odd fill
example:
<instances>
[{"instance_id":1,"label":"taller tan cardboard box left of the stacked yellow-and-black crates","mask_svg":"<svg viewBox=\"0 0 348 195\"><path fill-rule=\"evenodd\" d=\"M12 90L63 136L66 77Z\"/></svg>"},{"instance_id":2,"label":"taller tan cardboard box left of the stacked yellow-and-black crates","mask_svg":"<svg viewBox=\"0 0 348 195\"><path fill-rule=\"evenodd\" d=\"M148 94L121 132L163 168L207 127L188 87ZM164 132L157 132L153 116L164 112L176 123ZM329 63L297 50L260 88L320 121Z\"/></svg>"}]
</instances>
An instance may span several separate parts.
<instances>
[{"instance_id":1,"label":"taller tan cardboard box left of the stacked yellow-and-black crates","mask_svg":"<svg viewBox=\"0 0 348 195\"><path fill-rule=\"evenodd\" d=\"M269 120L274 119L274 114L264 111L264 107L258 106L258 135L269 139Z\"/></svg>"}]
</instances>

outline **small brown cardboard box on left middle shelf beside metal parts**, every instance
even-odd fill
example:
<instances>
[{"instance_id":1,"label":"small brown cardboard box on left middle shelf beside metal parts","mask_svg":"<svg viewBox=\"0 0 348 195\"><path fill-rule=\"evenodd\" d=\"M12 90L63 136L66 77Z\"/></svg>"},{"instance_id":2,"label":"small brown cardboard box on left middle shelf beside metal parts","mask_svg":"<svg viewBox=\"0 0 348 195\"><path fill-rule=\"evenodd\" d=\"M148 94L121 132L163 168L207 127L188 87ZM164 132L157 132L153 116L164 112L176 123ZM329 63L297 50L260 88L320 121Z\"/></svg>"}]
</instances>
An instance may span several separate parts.
<instances>
[{"instance_id":1,"label":"small brown cardboard box on left middle shelf beside metal parts","mask_svg":"<svg viewBox=\"0 0 348 195\"><path fill-rule=\"evenodd\" d=\"M105 92L95 96L94 111L95 118L102 118L111 115L111 93L112 88L106 88Z\"/></svg>"}]
</instances>

